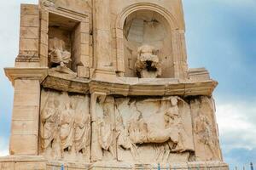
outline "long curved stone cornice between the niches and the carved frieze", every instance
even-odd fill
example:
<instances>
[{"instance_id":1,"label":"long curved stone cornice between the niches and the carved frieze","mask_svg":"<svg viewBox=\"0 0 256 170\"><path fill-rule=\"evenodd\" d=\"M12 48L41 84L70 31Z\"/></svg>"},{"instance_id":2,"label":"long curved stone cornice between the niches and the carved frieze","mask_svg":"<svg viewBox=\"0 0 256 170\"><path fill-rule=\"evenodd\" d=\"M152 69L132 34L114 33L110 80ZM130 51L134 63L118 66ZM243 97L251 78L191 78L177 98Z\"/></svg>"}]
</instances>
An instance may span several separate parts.
<instances>
[{"instance_id":1,"label":"long curved stone cornice between the niches and the carved frieze","mask_svg":"<svg viewBox=\"0 0 256 170\"><path fill-rule=\"evenodd\" d=\"M52 88L79 94L101 92L123 96L211 96L218 82L211 79L205 81L178 81L177 79L138 79L116 78L115 81L99 81L82 79L49 71L49 76L42 83L44 88Z\"/></svg>"}]
</instances>

